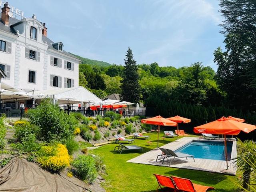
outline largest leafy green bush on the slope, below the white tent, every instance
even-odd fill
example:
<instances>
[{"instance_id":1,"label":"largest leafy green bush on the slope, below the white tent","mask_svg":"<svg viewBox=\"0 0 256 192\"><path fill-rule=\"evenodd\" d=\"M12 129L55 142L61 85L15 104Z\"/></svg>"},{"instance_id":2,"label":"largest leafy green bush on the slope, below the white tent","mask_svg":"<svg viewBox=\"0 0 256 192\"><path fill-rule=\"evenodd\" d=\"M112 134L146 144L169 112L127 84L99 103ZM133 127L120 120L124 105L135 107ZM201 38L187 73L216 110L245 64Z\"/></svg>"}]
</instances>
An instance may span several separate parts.
<instances>
[{"instance_id":1,"label":"largest leafy green bush on the slope, below the white tent","mask_svg":"<svg viewBox=\"0 0 256 192\"><path fill-rule=\"evenodd\" d=\"M65 140L73 135L77 124L73 115L66 114L50 99L43 100L36 109L28 110L32 124L40 127L40 139L45 141Z\"/></svg>"}]
</instances>

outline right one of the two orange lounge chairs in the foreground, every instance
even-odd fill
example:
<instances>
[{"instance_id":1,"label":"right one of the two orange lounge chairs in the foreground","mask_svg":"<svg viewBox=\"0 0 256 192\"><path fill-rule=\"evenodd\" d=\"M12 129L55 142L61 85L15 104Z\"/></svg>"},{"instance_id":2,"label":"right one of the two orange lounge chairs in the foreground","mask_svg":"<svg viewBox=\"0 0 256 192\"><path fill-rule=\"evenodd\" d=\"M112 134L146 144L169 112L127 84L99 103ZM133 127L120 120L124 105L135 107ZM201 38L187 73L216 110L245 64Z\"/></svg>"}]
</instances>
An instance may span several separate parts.
<instances>
[{"instance_id":1,"label":"right one of the two orange lounge chairs in the foreground","mask_svg":"<svg viewBox=\"0 0 256 192\"><path fill-rule=\"evenodd\" d=\"M174 177L171 176L175 187L178 191L186 191L186 192L206 192L207 190L214 189L213 187L203 186L192 183L191 180L180 178L180 177Z\"/></svg>"}]
</instances>

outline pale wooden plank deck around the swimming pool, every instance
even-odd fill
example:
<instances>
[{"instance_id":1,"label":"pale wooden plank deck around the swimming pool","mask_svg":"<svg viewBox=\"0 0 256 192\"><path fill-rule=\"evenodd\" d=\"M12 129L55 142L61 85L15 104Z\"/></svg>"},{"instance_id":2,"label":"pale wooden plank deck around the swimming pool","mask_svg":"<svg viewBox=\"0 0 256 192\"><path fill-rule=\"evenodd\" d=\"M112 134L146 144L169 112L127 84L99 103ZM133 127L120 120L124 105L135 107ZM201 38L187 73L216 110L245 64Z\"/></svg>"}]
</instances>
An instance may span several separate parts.
<instances>
[{"instance_id":1,"label":"pale wooden plank deck around the swimming pool","mask_svg":"<svg viewBox=\"0 0 256 192\"><path fill-rule=\"evenodd\" d=\"M184 146L185 144L191 142L192 140L204 140L200 139L198 137L183 137L177 141L170 142L164 146L161 146L161 148L167 148L171 150L177 150L178 148ZM207 140L209 141L209 140ZM220 141L220 140L211 140L211 141ZM170 160L164 161L164 164L162 164L162 161L158 160L156 162L156 156L161 154L161 150L158 148L155 148L149 152L146 152L136 158L133 158L131 160L128 160L127 162L131 163L139 163L139 164L148 164L148 165L157 165L157 166L166 166L166 167L173 167L173 168L183 168L183 169L193 169L193 170L201 170L201 171L208 171L208 172L217 172L222 173L221 170L226 169L226 161L223 160L211 160L211 159L200 159L195 158L195 162L193 158L181 158L176 159L172 161L172 164L169 165ZM233 141L232 145L232 152L231 152L231 159L236 157L236 141ZM236 174L236 164L234 163L234 160L231 160L228 162L229 169L234 170L234 174Z\"/></svg>"}]
</instances>

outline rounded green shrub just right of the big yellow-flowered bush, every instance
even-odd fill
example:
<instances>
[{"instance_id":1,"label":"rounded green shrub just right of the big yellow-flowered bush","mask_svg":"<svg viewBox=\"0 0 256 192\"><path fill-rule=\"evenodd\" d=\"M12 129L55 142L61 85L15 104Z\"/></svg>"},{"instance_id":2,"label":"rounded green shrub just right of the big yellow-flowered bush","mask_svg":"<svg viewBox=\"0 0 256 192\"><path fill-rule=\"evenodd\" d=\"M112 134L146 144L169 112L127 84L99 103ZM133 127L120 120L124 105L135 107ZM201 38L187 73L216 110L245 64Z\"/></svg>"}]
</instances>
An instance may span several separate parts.
<instances>
[{"instance_id":1,"label":"rounded green shrub just right of the big yellow-flowered bush","mask_svg":"<svg viewBox=\"0 0 256 192\"><path fill-rule=\"evenodd\" d=\"M97 170L92 156L80 155L72 162L72 166L74 166L76 174L81 180L86 180L89 183L95 180Z\"/></svg>"}]
</instances>

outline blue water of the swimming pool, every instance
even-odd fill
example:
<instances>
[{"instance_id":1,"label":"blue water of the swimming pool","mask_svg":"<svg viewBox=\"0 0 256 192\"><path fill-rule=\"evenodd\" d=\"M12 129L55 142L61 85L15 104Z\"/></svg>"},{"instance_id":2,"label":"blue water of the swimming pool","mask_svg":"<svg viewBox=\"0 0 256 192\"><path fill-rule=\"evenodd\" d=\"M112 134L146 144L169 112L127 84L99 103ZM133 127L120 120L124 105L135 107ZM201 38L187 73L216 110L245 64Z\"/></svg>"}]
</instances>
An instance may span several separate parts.
<instances>
[{"instance_id":1,"label":"blue water of the swimming pool","mask_svg":"<svg viewBox=\"0 0 256 192\"><path fill-rule=\"evenodd\" d=\"M228 161L230 161L232 143L227 142ZM213 141L192 141L175 150L175 152L193 155L194 158L226 160L224 142Z\"/></svg>"}]
</instances>

